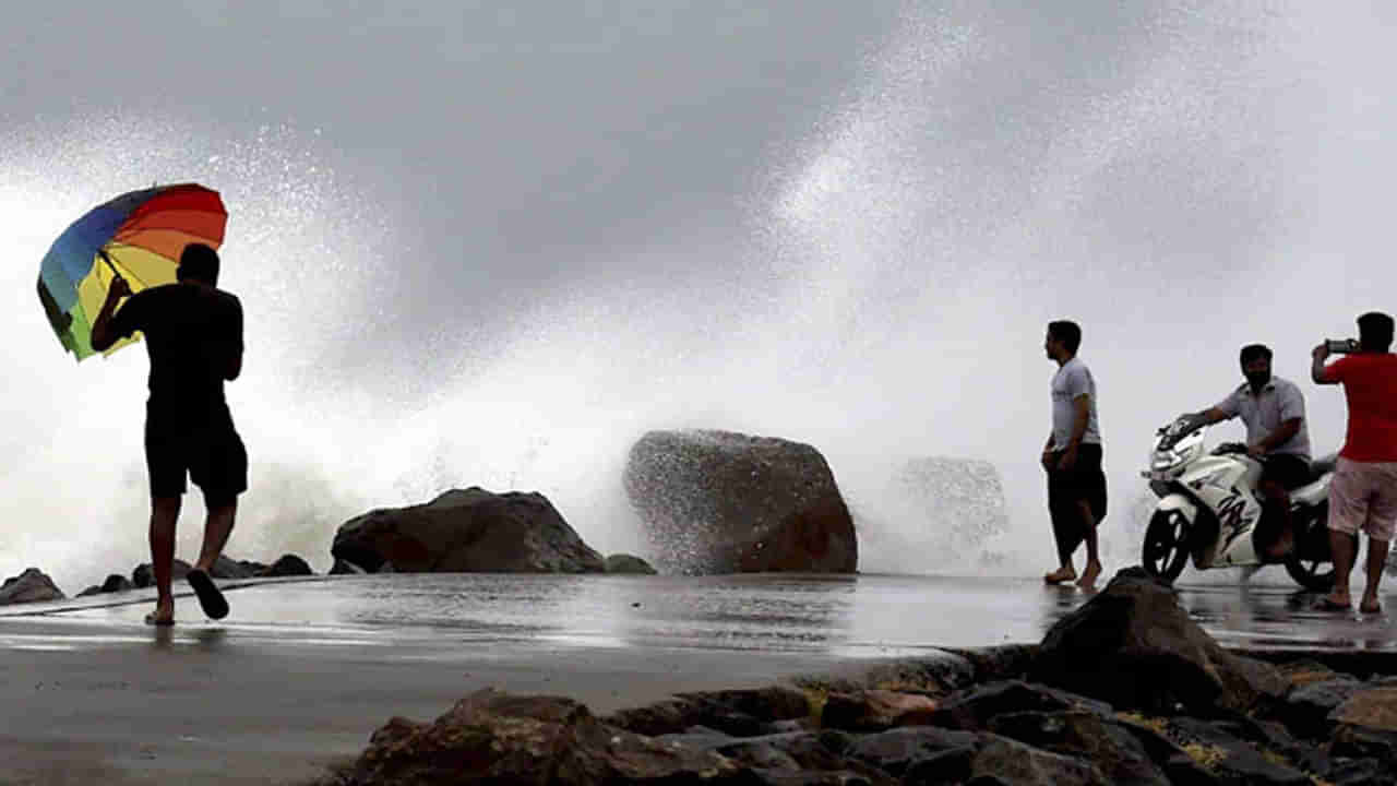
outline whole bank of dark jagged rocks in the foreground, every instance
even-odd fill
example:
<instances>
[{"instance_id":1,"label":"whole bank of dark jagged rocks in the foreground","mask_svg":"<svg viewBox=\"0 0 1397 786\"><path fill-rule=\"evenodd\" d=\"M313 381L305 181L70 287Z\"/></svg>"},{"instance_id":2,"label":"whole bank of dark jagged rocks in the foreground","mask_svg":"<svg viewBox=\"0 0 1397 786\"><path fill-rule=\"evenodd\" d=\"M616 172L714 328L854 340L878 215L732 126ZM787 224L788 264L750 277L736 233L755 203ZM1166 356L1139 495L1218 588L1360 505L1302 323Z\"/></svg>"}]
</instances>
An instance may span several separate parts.
<instances>
[{"instance_id":1,"label":"whole bank of dark jagged rocks in the foreground","mask_svg":"<svg viewBox=\"0 0 1397 786\"><path fill-rule=\"evenodd\" d=\"M1397 783L1397 656L1327 660L1227 650L1126 569L1037 645L605 716L486 688L314 785Z\"/></svg>"}]
</instances>

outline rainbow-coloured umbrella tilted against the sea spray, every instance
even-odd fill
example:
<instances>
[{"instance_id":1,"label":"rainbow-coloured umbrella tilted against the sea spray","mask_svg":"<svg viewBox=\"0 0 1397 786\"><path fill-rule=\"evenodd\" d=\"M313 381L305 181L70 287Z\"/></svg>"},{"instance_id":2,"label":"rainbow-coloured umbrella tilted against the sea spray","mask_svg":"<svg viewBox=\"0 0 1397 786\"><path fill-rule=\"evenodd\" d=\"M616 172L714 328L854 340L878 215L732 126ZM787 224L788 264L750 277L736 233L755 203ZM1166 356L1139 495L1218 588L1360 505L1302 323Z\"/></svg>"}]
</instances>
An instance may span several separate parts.
<instances>
[{"instance_id":1,"label":"rainbow-coloured umbrella tilted against the sea spray","mask_svg":"<svg viewBox=\"0 0 1397 786\"><path fill-rule=\"evenodd\" d=\"M94 207L53 241L39 267L39 301L59 341L80 361L92 355L92 320L113 274L133 292L169 284L184 246L217 249L226 224L218 192L194 183L131 192Z\"/></svg>"}]
</instances>

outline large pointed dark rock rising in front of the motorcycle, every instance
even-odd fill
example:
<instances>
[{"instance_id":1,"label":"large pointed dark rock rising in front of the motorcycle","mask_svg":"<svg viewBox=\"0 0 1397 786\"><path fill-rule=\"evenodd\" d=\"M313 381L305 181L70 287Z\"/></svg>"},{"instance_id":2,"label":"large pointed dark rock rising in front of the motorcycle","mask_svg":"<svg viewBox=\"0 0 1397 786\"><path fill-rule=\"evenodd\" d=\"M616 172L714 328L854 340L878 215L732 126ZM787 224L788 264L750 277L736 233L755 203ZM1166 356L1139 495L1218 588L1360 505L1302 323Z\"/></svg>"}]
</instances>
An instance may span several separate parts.
<instances>
[{"instance_id":1,"label":"large pointed dark rock rising in front of the motorcycle","mask_svg":"<svg viewBox=\"0 0 1397 786\"><path fill-rule=\"evenodd\" d=\"M1171 713L1248 712L1275 702L1275 667L1222 649L1189 618L1175 592L1140 568L1116 573L1059 620L1032 663L1034 680L1109 702Z\"/></svg>"}]
</instances>

